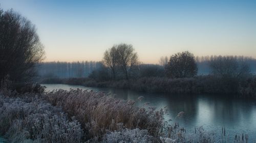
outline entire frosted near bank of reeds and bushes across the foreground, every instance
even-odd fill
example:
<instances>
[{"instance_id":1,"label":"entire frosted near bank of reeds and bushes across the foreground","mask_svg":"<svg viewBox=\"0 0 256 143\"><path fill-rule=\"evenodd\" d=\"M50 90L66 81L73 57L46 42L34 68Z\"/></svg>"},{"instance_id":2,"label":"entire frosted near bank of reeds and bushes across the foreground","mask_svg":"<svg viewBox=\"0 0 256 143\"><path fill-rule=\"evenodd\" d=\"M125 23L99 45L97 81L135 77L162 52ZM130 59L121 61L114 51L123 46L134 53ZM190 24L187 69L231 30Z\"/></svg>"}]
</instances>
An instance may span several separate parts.
<instances>
[{"instance_id":1,"label":"entire frosted near bank of reeds and bushes across the foreground","mask_svg":"<svg viewBox=\"0 0 256 143\"><path fill-rule=\"evenodd\" d=\"M43 94L2 90L0 136L8 142L226 141L225 132L217 133L222 136L219 138L202 127L188 134L179 124L164 120L166 109L156 110L147 104L136 107L135 102L84 90ZM180 112L177 118L182 115ZM248 136L234 141L247 142Z\"/></svg>"}]
</instances>

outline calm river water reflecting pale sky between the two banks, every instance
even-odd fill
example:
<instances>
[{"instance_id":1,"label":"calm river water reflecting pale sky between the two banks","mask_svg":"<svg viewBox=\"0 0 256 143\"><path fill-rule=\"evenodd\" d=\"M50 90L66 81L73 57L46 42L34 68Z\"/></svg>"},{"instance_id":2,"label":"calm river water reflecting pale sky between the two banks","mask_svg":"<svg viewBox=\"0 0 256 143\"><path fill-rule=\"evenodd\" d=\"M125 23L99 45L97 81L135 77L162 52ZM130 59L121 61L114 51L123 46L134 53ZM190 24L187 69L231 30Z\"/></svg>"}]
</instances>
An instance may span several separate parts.
<instances>
[{"instance_id":1,"label":"calm river water reflecting pale sky between the two banks","mask_svg":"<svg viewBox=\"0 0 256 143\"><path fill-rule=\"evenodd\" d=\"M188 132L194 132L195 127L203 126L207 131L221 133L222 127L225 127L226 133L230 134L230 139L233 139L235 134L246 133L249 136L249 142L256 140L256 101L253 100L230 99L221 95L166 95L79 85L42 85L47 87L47 91L77 88L104 91L111 93L115 98L125 100L136 100L139 96L143 96L144 99L137 103L138 106L145 102L150 102L151 106L157 108L167 106L169 115L166 118L179 122ZM184 117L175 119L180 111L185 112Z\"/></svg>"}]
</instances>

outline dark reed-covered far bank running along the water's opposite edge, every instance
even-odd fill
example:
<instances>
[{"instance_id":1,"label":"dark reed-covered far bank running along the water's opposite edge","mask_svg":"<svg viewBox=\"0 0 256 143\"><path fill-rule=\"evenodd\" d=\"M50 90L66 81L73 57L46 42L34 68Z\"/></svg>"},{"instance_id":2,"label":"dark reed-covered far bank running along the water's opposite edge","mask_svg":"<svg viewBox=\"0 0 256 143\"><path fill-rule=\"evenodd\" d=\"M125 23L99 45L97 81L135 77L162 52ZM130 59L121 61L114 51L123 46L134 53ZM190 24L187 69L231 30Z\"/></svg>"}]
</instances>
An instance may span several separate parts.
<instances>
[{"instance_id":1,"label":"dark reed-covered far bank running along the water's opposite edge","mask_svg":"<svg viewBox=\"0 0 256 143\"><path fill-rule=\"evenodd\" d=\"M169 94L226 94L241 98L256 98L256 77L221 78L197 76L194 78L143 77L130 80L96 81L91 78L48 78L41 83L61 83L86 87L130 89L149 93Z\"/></svg>"}]
</instances>

